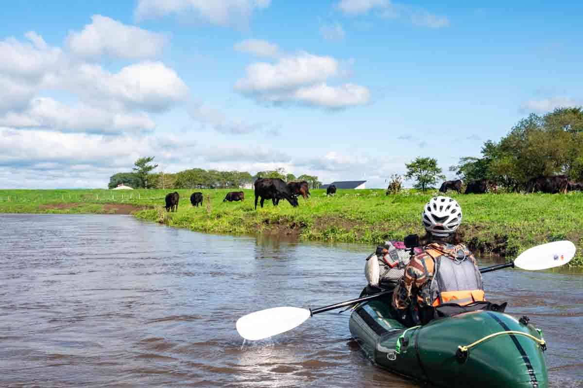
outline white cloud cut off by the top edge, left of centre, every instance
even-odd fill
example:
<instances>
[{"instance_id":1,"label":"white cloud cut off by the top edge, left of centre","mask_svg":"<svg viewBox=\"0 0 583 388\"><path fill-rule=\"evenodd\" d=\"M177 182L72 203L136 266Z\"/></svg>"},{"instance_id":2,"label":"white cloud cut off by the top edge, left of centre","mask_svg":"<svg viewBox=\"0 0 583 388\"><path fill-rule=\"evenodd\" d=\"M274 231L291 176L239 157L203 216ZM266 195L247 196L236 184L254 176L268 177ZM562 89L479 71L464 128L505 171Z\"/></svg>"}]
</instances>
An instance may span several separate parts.
<instances>
[{"instance_id":1,"label":"white cloud cut off by the top edge, left of centre","mask_svg":"<svg viewBox=\"0 0 583 388\"><path fill-rule=\"evenodd\" d=\"M271 0L138 0L136 19L156 18L171 13L191 15L219 26L247 23L255 10L265 9Z\"/></svg>"}]
</instances>

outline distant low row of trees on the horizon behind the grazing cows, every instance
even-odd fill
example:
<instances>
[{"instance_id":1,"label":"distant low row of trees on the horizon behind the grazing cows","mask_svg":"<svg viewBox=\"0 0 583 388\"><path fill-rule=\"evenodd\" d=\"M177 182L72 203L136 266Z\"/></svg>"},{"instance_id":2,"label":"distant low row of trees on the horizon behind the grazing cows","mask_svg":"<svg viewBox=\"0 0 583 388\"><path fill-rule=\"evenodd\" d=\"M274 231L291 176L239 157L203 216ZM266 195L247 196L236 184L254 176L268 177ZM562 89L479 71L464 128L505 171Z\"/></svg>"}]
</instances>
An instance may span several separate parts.
<instances>
[{"instance_id":1,"label":"distant low row of trees on the horizon behind the grazing cows","mask_svg":"<svg viewBox=\"0 0 583 388\"><path fill-rule=\"evenodd\" d=\"M318 188L322 182L317 176L307 174L298 177L286 173L285 169L259 171L255 175L241 171L218 171L203 169L188 169L178 173L164 173L152 170L158 165L153 164L154 156L139 158L134 163L132 172L116 173L110 177L109 188L126 184L132 188L240 188L252 184L258 178L280 178L286 182L307 181L310 187Z\"/></svg>"}]
</instances>

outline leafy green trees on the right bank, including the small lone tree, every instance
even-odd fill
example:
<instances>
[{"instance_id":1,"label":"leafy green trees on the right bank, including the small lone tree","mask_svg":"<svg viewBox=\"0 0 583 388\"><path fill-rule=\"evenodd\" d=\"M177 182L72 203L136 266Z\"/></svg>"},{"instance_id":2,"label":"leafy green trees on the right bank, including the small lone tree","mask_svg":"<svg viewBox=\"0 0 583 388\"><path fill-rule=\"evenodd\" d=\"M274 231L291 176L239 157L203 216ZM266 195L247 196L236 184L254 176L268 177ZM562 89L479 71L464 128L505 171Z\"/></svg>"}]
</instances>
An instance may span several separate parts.
<instances>
[{"instance_id":1,"label":"leafy green trees on the right bank, including the small lone tree","mask_svg":"<svg viewBox=\"0 0 583 388\"><path fill-rule=\"evenodd\" d=\"M583 181L583 107L557 108L530 114L518 121L500 141L488 140L482 156L463 156L449 171L468 183L489 179L508 189L524 187L534 177L564 174ZM426 190L445 179L434 158L407 163L405 177Z\"/></svg>"}]
</instances>

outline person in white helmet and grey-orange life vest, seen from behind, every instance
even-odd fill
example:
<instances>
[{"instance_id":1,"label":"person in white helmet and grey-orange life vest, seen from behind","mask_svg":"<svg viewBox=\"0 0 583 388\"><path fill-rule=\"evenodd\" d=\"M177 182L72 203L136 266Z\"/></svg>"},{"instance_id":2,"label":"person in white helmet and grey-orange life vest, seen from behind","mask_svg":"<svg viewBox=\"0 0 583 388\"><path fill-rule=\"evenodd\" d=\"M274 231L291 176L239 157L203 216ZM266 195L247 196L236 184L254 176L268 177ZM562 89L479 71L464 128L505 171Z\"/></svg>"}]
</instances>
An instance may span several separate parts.
<instances>
[{"instance_id":1,"label":"person in white helmet and grey-orange life vest, seen from behind","mask_svg":"<svg viewBox=\"0 0 583 388\"><path fill-rule=\"evenodd\" d=\"M421 214L427 235L423 252L413 256L396 286L392 305L406 326L426 324L434 307L483 301L482 274L458 235L462 209L453 198L434 197Z\"/></svg>"}]
</instances>

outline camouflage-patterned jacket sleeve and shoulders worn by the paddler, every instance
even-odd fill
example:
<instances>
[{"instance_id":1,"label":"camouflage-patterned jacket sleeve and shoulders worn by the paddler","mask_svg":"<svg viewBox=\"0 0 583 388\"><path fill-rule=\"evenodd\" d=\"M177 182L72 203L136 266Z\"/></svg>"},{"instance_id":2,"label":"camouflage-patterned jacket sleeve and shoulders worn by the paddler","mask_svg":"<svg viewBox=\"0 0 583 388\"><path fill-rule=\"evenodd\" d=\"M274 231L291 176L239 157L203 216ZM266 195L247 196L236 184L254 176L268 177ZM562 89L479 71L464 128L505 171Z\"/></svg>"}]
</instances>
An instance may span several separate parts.
<instances>
[{"instance_id":1,"label":"camouflage-patterned jacket sleeve and shoulders worn by the paddler","mask_svg":"<svg viewBox=\"0 0 583 388\"><path fill-rule=\"evenodd\" d=\"M434 275L434 260L427 254L427 250L437 250L442 256L455 257L458 254L465 254L467 259L472 260L477 268L476 259L464 244L431 243L424 247L423 253L417 254L411 259L405 268L405 275L395 288L392 304L396 309L407 309L412 302L417 306L431 306L431 279Z\"/></svg>"}]
</instances>

